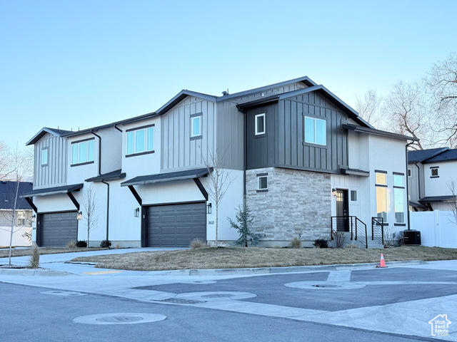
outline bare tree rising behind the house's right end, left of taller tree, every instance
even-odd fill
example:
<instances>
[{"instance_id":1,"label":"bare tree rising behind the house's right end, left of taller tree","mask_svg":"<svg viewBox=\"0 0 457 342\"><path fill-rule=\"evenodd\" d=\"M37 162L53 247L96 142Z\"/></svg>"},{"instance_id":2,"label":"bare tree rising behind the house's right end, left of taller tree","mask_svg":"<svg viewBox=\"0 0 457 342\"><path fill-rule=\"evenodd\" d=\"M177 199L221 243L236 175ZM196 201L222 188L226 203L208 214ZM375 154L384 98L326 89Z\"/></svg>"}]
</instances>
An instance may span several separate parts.
<instances>
[{"instance_id":1,"label":"bare tree rising behind the house's right end, left of taller tree","mask_svg":"<svg viewBox=\"0 0 457 342\"><path fill-rule=\"evenodd\" d=\"M383 110L393 132L420 139L411 148L423 150L424 147L433 145L433 133L428 125L428 108L419 83L396 83L385 100Z\"/></svg>"}]
</instances>

